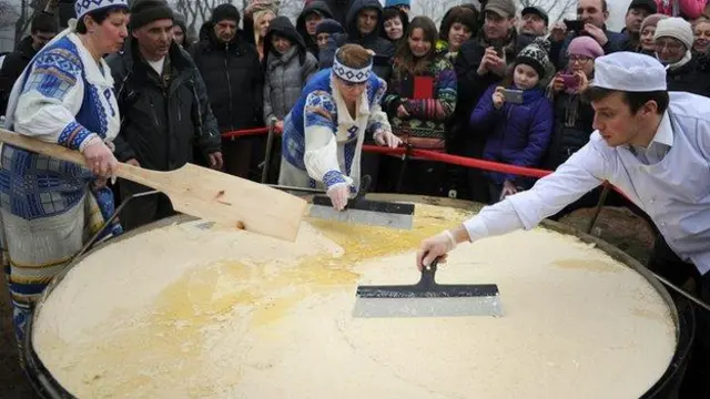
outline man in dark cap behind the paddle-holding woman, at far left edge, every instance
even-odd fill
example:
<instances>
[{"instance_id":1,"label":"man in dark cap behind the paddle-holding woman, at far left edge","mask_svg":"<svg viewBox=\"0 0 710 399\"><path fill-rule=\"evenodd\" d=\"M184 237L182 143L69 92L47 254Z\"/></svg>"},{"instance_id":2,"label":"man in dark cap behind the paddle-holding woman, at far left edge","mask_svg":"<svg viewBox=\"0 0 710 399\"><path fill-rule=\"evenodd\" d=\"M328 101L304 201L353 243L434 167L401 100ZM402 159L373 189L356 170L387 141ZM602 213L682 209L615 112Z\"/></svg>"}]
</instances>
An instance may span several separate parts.
<instances>
[{"instance_id":1,"label":"man in dark cap behind the paddle-holding woman, at far left edge","mask_svg":"<svg viewBox=\"0 0 710 399\"><path fill-rule=\"evenodd\" d=\"M32 19L30 35L20 41L17 51L6 55L0 69L0 115L3 115L8 108L8 99L14 81L20 78L32 57L57 35L57 18L39 12Z\"/></svg>"}]
</instances>

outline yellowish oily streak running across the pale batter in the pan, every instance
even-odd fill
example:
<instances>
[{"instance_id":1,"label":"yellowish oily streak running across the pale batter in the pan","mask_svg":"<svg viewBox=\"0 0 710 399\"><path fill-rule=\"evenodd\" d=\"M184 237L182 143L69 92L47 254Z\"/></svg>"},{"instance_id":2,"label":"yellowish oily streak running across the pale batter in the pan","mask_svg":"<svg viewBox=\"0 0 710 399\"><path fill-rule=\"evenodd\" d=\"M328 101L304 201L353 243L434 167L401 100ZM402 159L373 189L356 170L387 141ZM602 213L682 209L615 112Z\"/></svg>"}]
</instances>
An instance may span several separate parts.
<instances>
[{"instance_id":1,"label":"yellowish oily streak running across the pale batter in the pan","mask_svg":"<svg viewBox=\"0 0 710 399\"><path fill-rule=\"evenodd\" d=\"M165 378L180 381L199 375L196 367L203 364L201 359L210 349L203 329L219 328L221 323L243 317L248 319L244 330L254 331L285 317L294 306L314 294L343 285L355 286L359 275L352 272L354 265L412 250L423 239L456 226L468 215L459 209L454 214L453 218L419 216L410 231L310 219L324 236L346 249L342 256L306 257L296 266L275 272L270 268L270 274L264 265L237 260L191 269L168 285L152 304L146 305L143 314L132 317L134 320L130 324L100 327L95 334L105 339L98 346L79 349L83 359L97 359L91 360L97 364L83 378L87 390L77 393L104 397L123 392L130 397L155 392L153 385L156 382L152 376L161 376L160 383L164 387ZM126 318L119 311L115 316ZM264 330L263 338L266 337ZM150 347L146 342L151 342ZM136 357L135 354L142 355ZM112 359L112 362L104 365L99 359ZM160 359L171 359L171 362L164 364ZM139 376L122 380L121 374L113 371L115 365L140 370ZM71 372L72 368L68 365L63 371ZM234 370L229 383L239 381L240 374ZM195 381L190 386L186 393L191 397L212 396L217 389L209 381Z\"/></svg>"}]
</instances>

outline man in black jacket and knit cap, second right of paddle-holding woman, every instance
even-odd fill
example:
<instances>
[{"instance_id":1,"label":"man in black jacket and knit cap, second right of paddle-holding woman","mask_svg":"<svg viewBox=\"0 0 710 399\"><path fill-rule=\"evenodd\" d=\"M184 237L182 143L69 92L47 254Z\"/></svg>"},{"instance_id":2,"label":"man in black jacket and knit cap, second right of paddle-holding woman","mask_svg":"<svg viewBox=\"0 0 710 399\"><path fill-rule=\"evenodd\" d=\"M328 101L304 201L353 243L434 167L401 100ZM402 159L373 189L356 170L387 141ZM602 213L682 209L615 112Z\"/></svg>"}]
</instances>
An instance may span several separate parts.
<instances>
[{"instance_id":1,"label":"man in black jacket and knit cap, second right of paddle-holding woman","mask_svg":"<svg viewBox=\"0 0 710 399\"><path fill-rule=\"evenodd\" d=\"M206 38L193 47L193 59L204 78L222 133L262 125L264 75L256 49L237 32L239 23L240 13L234 6L217 6L203 27ZM225 139L222 150L226 172L248 177L263 156L262 139Z\"/></svg>"}]
</instances>

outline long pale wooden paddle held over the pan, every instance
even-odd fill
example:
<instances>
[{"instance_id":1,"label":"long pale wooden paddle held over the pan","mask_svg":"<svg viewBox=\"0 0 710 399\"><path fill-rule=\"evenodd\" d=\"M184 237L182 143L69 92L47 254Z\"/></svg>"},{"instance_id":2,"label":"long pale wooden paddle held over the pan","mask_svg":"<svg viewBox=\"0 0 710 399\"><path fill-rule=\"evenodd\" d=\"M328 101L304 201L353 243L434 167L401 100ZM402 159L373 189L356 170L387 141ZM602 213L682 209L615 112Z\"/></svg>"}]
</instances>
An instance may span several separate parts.
<instances>
[{"instance_id":1,"label":"long pale wooden paddle held over the pan","mask_svg":"<svg viewBox=\"0 0 710 399\"><path fill-rule=\"evenodd\" d=\"M85 166L81 153L58 144L2 129L0 141ZM295 195L193 164L156 172L120 163L115 175L164 193L178 212L291 242L307 206Z\"/></svg>"}]
</instances>

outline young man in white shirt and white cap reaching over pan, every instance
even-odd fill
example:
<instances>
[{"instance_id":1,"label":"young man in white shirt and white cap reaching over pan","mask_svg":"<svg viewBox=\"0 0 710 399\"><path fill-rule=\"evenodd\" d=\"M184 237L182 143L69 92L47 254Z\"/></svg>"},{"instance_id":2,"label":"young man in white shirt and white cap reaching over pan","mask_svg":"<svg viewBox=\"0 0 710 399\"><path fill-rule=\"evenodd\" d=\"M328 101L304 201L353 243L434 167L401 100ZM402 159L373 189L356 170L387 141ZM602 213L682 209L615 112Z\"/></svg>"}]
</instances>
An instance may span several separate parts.
<instances>
[{"instance_id":1,"label":"young man in white shirt and white cap reaching over pan","mask_svg":"<svg viewBox=\"0 0 710 399\"><path fill-rule=\"evenodd\" d=\"M648 267L680 285L693 278L710 301L710 99L668 93L656 59L618 52L596 60L586 95L595 109L589 143L529 191L506 197L422 243L417 267L454 249L530 229L605 180L651 217L660 232ZM693 381L708 383L710 315L698 311ZM689 376L690 377L690 376Z\"/></svg>"}]
</instances>

